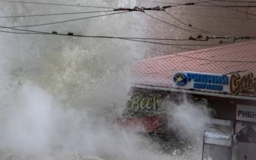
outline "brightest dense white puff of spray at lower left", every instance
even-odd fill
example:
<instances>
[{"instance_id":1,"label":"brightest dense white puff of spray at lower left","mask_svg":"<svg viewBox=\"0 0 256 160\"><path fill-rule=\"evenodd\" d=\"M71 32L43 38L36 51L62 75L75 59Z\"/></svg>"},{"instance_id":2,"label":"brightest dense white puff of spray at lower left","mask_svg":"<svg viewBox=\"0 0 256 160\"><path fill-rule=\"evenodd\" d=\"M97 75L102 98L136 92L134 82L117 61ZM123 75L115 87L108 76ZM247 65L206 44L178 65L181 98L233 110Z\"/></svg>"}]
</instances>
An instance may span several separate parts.
<instances>
[{"instance_id":1,"label":"brightest dense white puff of spray at lower left","mask_svg":"<svg viewBox=\"0 0 256 160\"><path fill-rule=\"evenodd\" d=\"M17 152L47 152L52 129L52 98L44 90L25 84L9 113L2 145Z\"/></svg>"}]
</instances>

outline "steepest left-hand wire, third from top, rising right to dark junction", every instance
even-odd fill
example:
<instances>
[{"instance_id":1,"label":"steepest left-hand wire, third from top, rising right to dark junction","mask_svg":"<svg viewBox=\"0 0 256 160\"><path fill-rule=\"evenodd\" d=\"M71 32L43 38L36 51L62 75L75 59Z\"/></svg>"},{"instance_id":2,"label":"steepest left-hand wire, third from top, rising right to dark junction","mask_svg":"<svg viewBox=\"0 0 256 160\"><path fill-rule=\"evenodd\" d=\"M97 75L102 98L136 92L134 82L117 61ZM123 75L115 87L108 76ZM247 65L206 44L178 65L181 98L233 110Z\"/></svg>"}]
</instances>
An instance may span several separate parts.
<instances>
[{"instance_id":1,"label":"steepest left-hand wire, third from top, rising right to dark junction","mask_svg":"<svg viewBox=\"0 0 256 160\"><path fill-rule=\"evenodd\" d=\"M60 24L60 23L64 23L64 22L71 22L71 21L83 20L83 19L91 19L91 18L95 18L95 17L104 17L107 15L116 15L116 14L121 14L121 13L127 13L127 11L118 12L118 13L109 13L109 14L105 14L105 15L95 15L95 16L83 17L83 18L79 18L79 19L70 19L70 20L63 20L63 21L58 21L58 22L43 23L43 24L33 24L33 25L25 25L25 26L10 26L9 28L28 28L28 27L35 27L35 26L46 26L46 25L51 25L51 24Z\"/></svg>"}]
</instances>

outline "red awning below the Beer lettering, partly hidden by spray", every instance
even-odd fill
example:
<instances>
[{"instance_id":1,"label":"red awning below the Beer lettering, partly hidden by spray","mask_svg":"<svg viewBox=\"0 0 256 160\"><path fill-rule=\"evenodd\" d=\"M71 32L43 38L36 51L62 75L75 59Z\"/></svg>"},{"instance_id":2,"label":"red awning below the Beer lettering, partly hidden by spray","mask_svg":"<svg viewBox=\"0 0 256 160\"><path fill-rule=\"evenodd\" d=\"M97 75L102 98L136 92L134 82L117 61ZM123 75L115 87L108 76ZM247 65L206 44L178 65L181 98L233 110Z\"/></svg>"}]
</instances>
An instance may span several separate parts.
<instances>
[{"instance_id":1,"label":"red awning below the Beer lettering, partly hidden by spray","mask_svg":"<svg viewBox=\"0 0 256 160\"><path fill-rule=\"evenodd\" d=\"M153 132L157 127L166 124L167 119L162 116L118 118L117 123L138 132Z\"/></svg>"}]
</instances>

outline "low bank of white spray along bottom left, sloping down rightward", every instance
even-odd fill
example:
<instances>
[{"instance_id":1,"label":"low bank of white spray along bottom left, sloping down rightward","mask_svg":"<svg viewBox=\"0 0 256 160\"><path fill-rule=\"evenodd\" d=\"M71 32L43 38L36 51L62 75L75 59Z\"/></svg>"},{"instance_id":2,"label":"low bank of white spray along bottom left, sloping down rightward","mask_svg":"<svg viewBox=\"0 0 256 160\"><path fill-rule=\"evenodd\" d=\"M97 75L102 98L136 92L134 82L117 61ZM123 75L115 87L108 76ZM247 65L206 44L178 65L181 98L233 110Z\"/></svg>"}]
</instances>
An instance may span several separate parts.
<instances>
[{"instance_id":1,"label":"low bank of white spray along bottom left, sloping down rightward","mask_svg":"<svg viewBox=\"0 0 256 160\"><path fill-rule=\"evenodd\" d=\"M143 136L67 107L35 83L23 84L13 100L14 110L0 125L4 159L170 158L156 154Z\"/></svg>"}]
</instances>

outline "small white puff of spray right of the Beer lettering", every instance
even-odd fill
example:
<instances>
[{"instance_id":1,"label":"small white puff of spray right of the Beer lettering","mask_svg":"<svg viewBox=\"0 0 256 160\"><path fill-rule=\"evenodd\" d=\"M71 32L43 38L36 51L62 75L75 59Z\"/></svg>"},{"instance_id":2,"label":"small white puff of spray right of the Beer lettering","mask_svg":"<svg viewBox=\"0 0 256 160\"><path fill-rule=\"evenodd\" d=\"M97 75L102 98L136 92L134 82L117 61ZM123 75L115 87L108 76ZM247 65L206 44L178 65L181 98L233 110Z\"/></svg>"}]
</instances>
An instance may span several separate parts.
<instances>
[{"instance_id":1,"label":"small white puff of spray right of the Beer lettering","mask_svg":"<svg viewBox=\"0 0 256 160\"><path fill-rule=\"evenodd\" d=\"M181 98L182 99L182 98ZM211 121L207 104L191 102L183 96L179 104L170 102L168 125L172 130L184 138L201 138L205 125Z\"/></svg>"}]
</instances>

